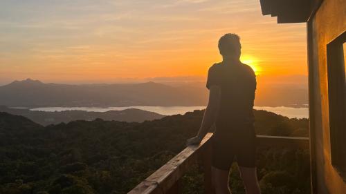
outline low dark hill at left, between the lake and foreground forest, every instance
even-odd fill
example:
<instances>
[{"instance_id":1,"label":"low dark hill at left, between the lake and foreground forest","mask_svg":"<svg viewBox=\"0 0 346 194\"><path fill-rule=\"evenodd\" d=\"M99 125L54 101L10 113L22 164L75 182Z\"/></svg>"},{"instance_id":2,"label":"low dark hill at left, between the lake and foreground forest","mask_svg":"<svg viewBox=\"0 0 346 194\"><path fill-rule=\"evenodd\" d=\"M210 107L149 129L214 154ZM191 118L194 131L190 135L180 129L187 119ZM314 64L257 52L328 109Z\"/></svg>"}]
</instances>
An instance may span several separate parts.
<instances>
[{"instance_id":1,"label":"low dark hill at left, between the lake and foreground forest","mask_svg":"<svg viewBox=\"0 0 346 194\"><path fill-rule=\"evenodd\" d=\"M44 126L50 124L68 123L74 120L91 121L97 118L107 121L115 120L120 122L144 122L147 120L161 119L164 117L158 113L130 108L126 110L110 110L107 112L87 112L83 110L66 110L61 112L31 111L28 109L7 108L0 106L0 112L12 115L21 115Z\"/></svg>"}]
</instances>

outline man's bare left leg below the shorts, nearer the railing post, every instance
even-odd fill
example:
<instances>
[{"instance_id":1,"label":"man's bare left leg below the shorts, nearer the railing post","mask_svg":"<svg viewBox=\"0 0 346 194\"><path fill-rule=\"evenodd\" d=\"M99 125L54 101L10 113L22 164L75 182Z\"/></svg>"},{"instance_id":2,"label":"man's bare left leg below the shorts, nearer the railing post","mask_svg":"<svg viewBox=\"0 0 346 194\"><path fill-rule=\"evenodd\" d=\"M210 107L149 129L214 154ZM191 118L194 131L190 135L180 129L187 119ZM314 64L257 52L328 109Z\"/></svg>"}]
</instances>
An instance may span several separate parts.
<instances>
[{"instance_id":1,"label":"man's bare left leg below the shorts, nearer the railing post","mask_svg":"<svg viewBox=\"0 0 346 194\"><path fill-rule=\"evenodd\" d=\"M228 177L230 172L212 166L212 184L215 194L231 194L228 187Z\"/></svg>"}]
</instances>

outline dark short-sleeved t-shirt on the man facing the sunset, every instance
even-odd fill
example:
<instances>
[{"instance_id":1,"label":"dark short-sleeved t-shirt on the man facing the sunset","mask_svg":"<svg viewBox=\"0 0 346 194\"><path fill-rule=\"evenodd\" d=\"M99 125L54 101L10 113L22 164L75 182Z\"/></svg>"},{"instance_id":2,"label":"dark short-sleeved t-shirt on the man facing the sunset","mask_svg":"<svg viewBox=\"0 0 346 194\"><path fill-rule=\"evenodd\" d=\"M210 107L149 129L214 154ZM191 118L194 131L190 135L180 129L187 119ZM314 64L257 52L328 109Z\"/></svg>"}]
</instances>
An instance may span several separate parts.
<instances>
[{"instance_id":1,"label":"dark short-sleeved t-shirt on the man facing the sunset","mask_svg":"<svg viewBox=\"0 0 346 194\"><path fill-rule=\"evenodd\" d=\"M253 123L253 101L255 99L256 76L246 64L214 64L209 68L207 88L221 88L221 101L217 115L217 126L235 122Z\"/></svg>"}]
</instances>

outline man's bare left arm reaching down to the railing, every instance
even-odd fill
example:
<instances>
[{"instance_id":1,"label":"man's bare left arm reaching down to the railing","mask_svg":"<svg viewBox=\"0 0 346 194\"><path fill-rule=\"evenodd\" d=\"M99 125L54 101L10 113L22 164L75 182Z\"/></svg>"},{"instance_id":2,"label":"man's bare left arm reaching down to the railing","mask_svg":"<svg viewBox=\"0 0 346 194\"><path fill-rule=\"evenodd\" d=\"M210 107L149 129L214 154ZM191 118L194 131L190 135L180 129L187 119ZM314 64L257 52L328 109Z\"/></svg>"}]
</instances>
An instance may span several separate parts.
<instances>
[{"instance_id":1,"label":"man's bare left arm reaching down to the railing","mask_svg":"<svg viewBox=\"0 0 346 194\"><path fill-rule=\"evenodd\" d=\"M221 89L219 86L210 86L209 101L206 111L203 115L203 120L199 132L196 137L188 139L187 145L199 144L203 137L208 133L208 130L215 123L217 113L219 111L221 99Z\"/></svg>"}]
</instances>

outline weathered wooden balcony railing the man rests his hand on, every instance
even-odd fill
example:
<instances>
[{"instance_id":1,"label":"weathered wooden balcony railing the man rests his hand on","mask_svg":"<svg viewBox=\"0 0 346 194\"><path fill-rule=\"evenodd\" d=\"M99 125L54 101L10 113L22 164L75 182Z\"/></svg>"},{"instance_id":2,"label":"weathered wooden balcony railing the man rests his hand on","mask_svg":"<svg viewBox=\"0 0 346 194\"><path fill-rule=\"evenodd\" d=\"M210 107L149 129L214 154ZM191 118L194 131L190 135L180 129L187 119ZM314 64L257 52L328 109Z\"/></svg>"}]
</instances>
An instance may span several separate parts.
<instances>
[{"instance_id":1,"label":"weathered wooden balcony railing the man rests his hand on","mask_svg":"<svg viewBox=\"0 0 346 194\"><path fill-rule=\"evenodd\" d=\"M128 194L179 194L182 188L181 177L199 159L201 159L204 171L204 191L205 193L213 193L211 181L211 138L212 133L208 133L203 138L201 144L186 147ZM257 147L309 149L309 138L257 135Z\"/></svg>"}]
</instances>

